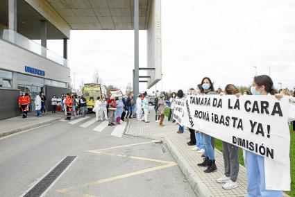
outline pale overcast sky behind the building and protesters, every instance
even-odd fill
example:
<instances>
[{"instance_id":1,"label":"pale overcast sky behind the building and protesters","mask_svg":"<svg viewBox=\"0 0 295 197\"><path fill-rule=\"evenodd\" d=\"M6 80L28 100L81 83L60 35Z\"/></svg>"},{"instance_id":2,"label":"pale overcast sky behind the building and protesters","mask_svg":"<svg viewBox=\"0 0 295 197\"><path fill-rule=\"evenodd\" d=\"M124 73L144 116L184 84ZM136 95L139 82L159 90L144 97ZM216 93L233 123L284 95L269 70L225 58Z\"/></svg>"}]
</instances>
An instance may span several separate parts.
<instances>
[{"instance_id":1,"label":"pale overcast sky behind the building and protesters","mask_svg":"<svg viewBox=\"0 0 295 197\"><path fill-rule=\"evenodd\" d=\"M132 83L133 35L71 31L68 57L76 88L81 80L92 82L95 69L106 85ZM62 42L48 46L62 54ZM250 85L254 66L258 75L269 74L270 67L275 87L295 86L294 0L162 0L163 82L157 89L162 83L172 91L196 87L204 76L215 87ZM146 67L145 31L140 31L140 67Z\"/></svg>"}]
</instances>

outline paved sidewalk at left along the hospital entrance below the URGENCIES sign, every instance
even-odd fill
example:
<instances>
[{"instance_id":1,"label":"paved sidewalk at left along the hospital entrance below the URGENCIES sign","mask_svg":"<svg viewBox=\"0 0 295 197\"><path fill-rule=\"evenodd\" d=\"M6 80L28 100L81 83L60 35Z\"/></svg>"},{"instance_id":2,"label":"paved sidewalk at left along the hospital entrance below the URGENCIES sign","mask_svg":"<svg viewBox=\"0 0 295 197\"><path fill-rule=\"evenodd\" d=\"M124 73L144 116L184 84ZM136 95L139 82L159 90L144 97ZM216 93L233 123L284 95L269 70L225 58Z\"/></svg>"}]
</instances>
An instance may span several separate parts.
<instances>
[{"instance_id":1,"label":"paved sidewalk at left along the hospital entrance below the URGENCIES sign","mask_svg":"<svg viewBox=\"0 0 295 197\"><path fill-rule=\"evenodd\" d=\"M26 119L23 119L22 115L20 114L19 117L0 121L0 137L10 135L15 132L20 132L22 130L27 130L29 128L42 126L64 117L64 112L60 112L60 114L52 114L51 112L47 112L42 117L35 117L35 113L33 112L29 113Z\"/></svg>"}]
</instances>

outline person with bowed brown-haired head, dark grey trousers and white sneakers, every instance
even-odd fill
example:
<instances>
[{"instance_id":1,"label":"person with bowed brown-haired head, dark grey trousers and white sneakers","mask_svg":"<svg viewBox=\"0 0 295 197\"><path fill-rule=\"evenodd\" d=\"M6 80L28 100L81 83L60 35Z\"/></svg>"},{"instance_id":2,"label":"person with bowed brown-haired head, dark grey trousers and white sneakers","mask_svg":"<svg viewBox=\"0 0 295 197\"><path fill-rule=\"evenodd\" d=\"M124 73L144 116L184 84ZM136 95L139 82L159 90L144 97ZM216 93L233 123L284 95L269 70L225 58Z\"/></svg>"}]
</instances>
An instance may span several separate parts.
<instances>
[{"instance_id":1,"label":"person with bowed brown-haired head, dark grey trousers and white sneakers","mask_svg":"<svg viewBox=\"0 0 295 197\"><path fill-rule=\"evenodd\" d=\"M239 89L233 84L228 84L224 89L224 94L239 94ZM222 185L224 189L234 189L237 187L239 173L239 147L223 141L222 154L224 155L224 175L216 181L224 183Z\"/></svg>"}]
</instances>

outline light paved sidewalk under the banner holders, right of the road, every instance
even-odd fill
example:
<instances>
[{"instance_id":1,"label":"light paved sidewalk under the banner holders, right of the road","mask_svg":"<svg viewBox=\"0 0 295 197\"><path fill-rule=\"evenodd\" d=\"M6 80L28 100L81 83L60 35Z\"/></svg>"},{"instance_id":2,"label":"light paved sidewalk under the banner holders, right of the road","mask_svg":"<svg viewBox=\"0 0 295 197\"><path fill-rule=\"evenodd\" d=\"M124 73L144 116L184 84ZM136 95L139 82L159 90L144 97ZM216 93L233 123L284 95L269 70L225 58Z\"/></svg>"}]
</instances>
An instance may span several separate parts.
<instances>
[{"instance_id":1,"label":"light paved sidewalk under the banner holders, right of the road","mask_svg":"<svg viewBox=\"0 0 295 197\"><path fill-rule=\"evenodd\" d=\"M196 192L197 196L245 196L246 195L246 169L239 166L239 176L237 179L238 187L231 190L223 189L216 182L216 179L224 175L224 158L220 151L215 148L215 160L217 164L217 172L204 173L205 168L197 166L203 162L201 154L192 151L194 146L187 146L189 142L189 132L185 130L183 134L176 133L178 126L171 121L167 121L165 117L165 126L161 128L155 123L155 111L149 110L149 121L145 123L130 119L126 128L125 135L133 135L137 137L146 137L151 139L160 139L166 142L171 154L178 162L190 185Z\"/></svg>"}]
</instances>

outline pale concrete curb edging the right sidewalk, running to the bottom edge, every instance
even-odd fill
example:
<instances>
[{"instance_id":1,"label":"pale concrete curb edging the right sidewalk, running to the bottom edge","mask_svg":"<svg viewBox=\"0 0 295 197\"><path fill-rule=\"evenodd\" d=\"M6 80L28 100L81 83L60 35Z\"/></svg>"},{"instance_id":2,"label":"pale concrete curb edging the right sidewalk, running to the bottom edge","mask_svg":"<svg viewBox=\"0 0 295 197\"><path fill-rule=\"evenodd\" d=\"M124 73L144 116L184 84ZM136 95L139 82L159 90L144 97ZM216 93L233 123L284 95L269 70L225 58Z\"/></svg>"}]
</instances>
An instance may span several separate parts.
<instances>
[{"instance_id":1,"label":"pale concrete curb edging the right sidewalk, running to the bottom edge","mask_svg":"<svg viewBox=\"0 0 295 197\"><path fill-rule=\"evenodd\" d=\"M192 186L192 189L196 193L196 196L201 196L201 197L207 197L207 196L213 196L211 193L210 189L203 183L201 178L196 174L196 172L192 169L191 166L187 163L183 155L180 154L178 149L174 146L174 144L171 142L169 137L165 137L165 140L167 142L167 146L178 163L178 166L180 169L183 171L185 174L185 177L189 181L189 184Z\"/></svg>"}]
</instances>

